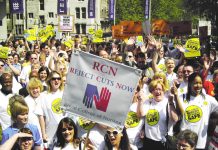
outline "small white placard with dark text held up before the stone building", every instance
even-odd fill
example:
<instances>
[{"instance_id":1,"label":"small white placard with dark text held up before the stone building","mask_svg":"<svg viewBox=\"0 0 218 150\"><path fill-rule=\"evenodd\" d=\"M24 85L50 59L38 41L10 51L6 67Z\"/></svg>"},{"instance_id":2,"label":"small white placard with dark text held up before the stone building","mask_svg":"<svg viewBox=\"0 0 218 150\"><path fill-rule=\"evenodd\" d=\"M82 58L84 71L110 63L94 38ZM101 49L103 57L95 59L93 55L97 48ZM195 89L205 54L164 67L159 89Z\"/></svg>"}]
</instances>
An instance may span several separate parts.
<instances>
[{"instance_id":1,"label":"small white placard with dark text held up before the stone building","mask_svg":"<svg viewBox=\"0 0 218 150\"><path fill-rule=\"evenodd\" d=\"M73 31L74 16L61 15L59 16L59 31Z\"/></svg>"}]
</instances>

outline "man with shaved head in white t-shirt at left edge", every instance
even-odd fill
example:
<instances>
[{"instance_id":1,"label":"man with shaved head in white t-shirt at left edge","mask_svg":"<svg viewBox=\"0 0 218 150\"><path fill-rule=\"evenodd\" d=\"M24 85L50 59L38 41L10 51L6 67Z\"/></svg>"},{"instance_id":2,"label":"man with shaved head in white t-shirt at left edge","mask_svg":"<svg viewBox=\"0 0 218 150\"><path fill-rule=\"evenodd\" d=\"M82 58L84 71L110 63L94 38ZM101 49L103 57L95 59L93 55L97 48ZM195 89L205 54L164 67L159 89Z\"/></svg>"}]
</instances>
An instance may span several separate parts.
<instances>
[{"instance_id":1,"label":"man with shaved head in white t-shirt at left edge","mask_svg":"<svg viewBox=\"0 0 218 150\"><path fill-rule=\"evenodd\" d=\"M12 96L12 74L10 72L3 72L0 77L0 84L2 85L0 91L0 123L2 129L6 129L11 125L11 116L9 112L9 98Z\"/></svg>"}]
</instances>

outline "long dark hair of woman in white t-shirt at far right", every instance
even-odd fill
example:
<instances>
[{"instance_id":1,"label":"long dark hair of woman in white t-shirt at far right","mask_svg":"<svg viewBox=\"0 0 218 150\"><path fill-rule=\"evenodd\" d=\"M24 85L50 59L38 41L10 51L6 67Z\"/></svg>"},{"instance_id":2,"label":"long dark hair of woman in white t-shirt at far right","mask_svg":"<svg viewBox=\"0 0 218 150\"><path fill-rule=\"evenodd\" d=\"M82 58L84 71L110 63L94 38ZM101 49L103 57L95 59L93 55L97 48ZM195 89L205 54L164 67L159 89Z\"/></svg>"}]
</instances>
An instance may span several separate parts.
<instances>
[{"instance_id":1,"label":"long dark hair of woman in white t-shirt at far right","mask_svg":"<svg viewBox=\"0 0 218 150\"><path fill-rule=\"evenodd\" d=\"M186 94L187 101L190 101L190 97L192 95L192 86L193 86L193 83L194 83L194 80L196 77L200 77L202 82L203 82L203 79L198 72L194 72L188 77L188 90L187 90L187 94ZM203 83L202 83L202 86L203 86ZM202 89L203 89L203 87L202 87ZM201 96L203 98L205 98L205 94L202 92L202 90L201 90Z\"/></svg>"}]
</instances>

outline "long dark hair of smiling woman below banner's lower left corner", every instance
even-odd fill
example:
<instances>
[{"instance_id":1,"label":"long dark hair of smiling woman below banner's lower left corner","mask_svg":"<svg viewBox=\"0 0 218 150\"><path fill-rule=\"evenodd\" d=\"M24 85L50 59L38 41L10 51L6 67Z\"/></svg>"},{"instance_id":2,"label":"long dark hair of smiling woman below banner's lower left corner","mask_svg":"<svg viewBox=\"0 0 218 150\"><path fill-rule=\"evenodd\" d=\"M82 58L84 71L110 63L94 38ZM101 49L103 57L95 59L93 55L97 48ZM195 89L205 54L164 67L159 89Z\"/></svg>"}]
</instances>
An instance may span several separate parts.
<instances>
[{"instance_id":1,"label":"long dark hair of smiling woman below banner's lower left corner","mask_svg":"<svg viewBox=\"0 0 218 150\"><path fill-rule=\"evenodd\" d=\"M69 117L65 117L63 119L61 119L61 121L59 122L58 124L58 128L57 128L57 131L56 131L56 137L57 137L57 142L56 142L56 146L57 147L64 147L65 145L65 139L62 135L62 128L63 128L63 124L66 123L68 124L69 126L72 126L73 127L73 130L74 130L74 135L73 135L73 141L74 144L78 144L78 129L77 129L77 126L76 124L74 123L74 121L69 118Z\"/></svg>"}]
</instances>

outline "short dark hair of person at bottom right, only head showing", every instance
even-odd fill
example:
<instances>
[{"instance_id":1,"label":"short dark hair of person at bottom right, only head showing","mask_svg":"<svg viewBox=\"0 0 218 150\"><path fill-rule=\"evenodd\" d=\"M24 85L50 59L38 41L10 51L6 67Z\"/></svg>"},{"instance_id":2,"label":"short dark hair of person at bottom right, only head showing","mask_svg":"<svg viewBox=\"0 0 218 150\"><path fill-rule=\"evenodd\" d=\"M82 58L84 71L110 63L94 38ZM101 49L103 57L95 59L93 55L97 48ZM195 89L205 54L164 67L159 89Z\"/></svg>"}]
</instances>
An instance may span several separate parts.
<instances>
[{"instance_id":1,"label":"short dark hair of person at bottom right, only head showing","mask_svg":"<svg viewBox=\"0 0 218 150\"><path fill-rule=\"evenodd\" d=\"M185 140L191 147L195 147L198 141L198 135L195 132L186 129L177 135L177 142L180 140Z\"/></svg>"}]
</instances>

